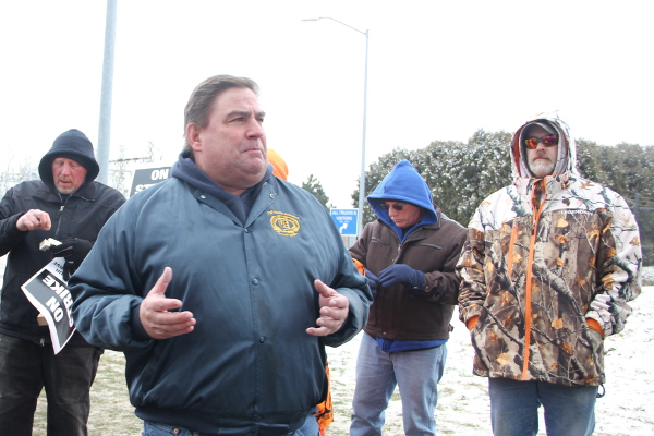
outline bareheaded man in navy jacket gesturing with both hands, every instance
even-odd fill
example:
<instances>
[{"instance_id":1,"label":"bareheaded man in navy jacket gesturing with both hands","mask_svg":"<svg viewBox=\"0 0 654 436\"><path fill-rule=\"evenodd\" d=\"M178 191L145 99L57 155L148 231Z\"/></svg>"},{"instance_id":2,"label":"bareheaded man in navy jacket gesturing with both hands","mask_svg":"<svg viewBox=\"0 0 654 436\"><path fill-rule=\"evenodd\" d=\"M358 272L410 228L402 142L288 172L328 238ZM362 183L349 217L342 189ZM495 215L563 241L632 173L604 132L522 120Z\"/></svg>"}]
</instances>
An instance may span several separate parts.
<instances>
[{"instance_id":1,"label":"bareheaded man in navy jacket gesturing with both hands","mask_svg":"<svg viewBox=\"0 0 654 436\"><path fill-rule=\"evenodd\" d=\"M367 320L329 213L272 175L257 94L202 82L171 178L125 203L70 281L77 329L125 354L146 435L317 436L325 346Z\"/></svg>"}]
</instances>

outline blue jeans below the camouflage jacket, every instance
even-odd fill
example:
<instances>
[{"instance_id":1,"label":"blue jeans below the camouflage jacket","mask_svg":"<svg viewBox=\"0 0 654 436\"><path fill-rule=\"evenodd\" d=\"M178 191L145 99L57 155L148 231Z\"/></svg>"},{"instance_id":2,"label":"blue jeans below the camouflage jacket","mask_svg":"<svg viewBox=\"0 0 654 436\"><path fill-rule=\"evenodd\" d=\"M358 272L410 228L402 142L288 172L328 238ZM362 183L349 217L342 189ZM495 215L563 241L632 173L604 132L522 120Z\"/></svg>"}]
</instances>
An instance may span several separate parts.
<instances>
[{"instance_id":1,"label":"blue jeans below the camouflage jacket","mask_svg":"<svg viewBox=\"0 0 654 436\"><path fill-rule=\"evenodd\" d=\"M495 436L535 436L541 404L547 435L588 436L595 428L597 386L577 388L543 382L488 378L488 393Z\"/></svg>"}]
</instances>

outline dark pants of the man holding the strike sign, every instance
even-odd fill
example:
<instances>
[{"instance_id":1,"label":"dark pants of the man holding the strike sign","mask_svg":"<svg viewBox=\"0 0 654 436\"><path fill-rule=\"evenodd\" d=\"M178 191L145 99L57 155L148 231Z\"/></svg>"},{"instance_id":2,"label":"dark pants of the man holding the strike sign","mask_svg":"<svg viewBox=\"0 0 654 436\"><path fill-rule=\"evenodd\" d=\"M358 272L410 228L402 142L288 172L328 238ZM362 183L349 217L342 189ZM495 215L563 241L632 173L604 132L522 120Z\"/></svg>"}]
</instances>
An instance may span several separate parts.
<instances>
[{"instance_id":1,"label":"dark pants of the man holding the strike sign","mask_svg":"<svg viewBox=\"0 0 654 436\"><path fill-rule=\"evenodd\" d=\"M48 398L48 436L86 436L89 389L102 350L68 344L55 355L51 346L0 334L0 429L32 435L41 389Z\"/></svg>"}]
</instances>

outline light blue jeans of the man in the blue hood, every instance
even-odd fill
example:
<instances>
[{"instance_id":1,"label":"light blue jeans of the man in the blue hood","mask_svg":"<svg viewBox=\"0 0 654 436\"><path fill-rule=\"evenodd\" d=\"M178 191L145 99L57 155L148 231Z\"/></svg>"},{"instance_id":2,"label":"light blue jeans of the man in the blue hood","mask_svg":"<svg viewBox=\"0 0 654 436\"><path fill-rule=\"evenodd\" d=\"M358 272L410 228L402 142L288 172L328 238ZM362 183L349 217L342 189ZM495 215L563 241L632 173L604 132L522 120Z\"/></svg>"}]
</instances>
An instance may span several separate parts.
<instances>
[{"instance_id":1,"label":"light blue jeans of the man in the blue hood","mask_svg":"<svg viewBox=\"0 0 654 436\"><path fill-rule=\"evenodd\" d=\"M427 350L385 353L377 341L364 332L356 359L350 436L382 435L386 408L396 386L400 388L402 399L404 434L435 435L437 384L443 377L446 359L445 344Z\"/></svg>"}]
</instances>

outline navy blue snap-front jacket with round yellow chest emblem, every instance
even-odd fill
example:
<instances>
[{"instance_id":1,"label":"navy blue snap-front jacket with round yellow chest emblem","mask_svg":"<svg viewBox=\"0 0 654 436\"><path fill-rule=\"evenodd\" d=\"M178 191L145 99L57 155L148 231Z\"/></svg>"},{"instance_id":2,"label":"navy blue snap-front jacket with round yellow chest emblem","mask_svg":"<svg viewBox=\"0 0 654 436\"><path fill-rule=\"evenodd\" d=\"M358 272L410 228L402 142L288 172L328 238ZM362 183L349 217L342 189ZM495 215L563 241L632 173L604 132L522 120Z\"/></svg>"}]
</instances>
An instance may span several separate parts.
<instances>
[{"instance_id":1,"label":"navy blue snap-front jacket with round yellow chest emblem","mask_svg":"<svg viewBox=\"0 0 654 436\"><path fill-rule=\"evenodd\" d=\"M125 203L71 278L77 329L124 351L131 402L144 420L216 434L292 432L326 395L325 344L365 325L367 281L306 191L268 177L242 222L194 186L206 180L187 172L187 159L173 169ZM197 324L154 340L137 310L166 266L166 295ZM305 332L319 316L315 279L350 302L346 325L324 338Z\"/></svg>"}]
</instances>

